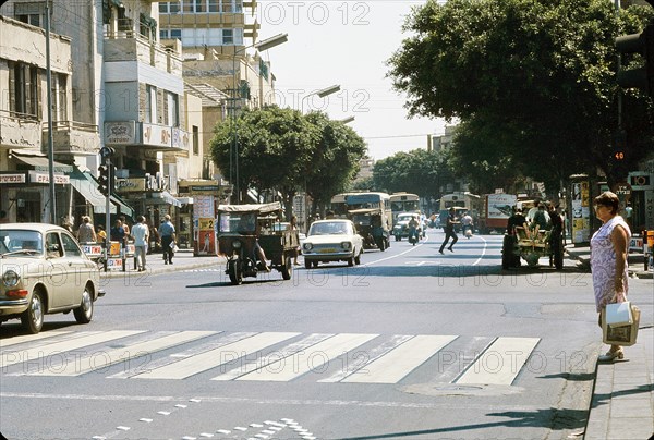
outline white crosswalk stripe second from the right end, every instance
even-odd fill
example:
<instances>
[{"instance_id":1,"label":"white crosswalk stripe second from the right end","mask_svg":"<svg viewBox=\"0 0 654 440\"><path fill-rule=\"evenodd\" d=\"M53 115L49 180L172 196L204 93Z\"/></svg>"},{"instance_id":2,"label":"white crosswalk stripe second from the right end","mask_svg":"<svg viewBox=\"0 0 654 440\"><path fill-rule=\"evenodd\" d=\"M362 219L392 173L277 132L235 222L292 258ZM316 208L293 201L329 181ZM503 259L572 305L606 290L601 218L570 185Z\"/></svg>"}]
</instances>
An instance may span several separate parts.
<instances>
[{"instance_id":1,"label":"white crosswalk stripe second from the right end","mask_svg":"<svg viewBox=\"0 0 654 440\"><path fill-rule=\"evenodd\" d=\"M417 335L396 350L363 366L342 382L347 383L397 383L444 346L452 342L455 335Z\"/></svg>"}]
</instances>

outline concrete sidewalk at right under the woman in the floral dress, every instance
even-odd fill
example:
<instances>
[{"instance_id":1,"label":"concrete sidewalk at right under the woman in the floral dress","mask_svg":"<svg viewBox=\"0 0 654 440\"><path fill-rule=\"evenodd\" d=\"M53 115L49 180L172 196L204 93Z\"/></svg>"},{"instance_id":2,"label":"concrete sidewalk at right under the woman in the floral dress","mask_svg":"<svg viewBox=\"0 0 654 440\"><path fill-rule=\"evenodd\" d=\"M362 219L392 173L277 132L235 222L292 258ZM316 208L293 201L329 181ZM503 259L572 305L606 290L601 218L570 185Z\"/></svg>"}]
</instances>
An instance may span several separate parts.
<instances>
[{"instance_id":1,"label":"concrete sidewalk at right under the woman in the floral dress","mask_svg":"<svg viewBox=\"0 0 654 440\"><path fill-rule=\"evenodd\" d=\"M567 246L566 252L581 266L588 266L590 271L590 247ZM652 279L652 272L642 270L642 256L634 258L632 254L629 262L631 276ZM640 268L637 267L639 262ZM593 399L584 439L645 440L653 436L654 329L641 325L635 345L625 347L623 360L597 363L595 367Z\"/></svg>"}]
</instances>

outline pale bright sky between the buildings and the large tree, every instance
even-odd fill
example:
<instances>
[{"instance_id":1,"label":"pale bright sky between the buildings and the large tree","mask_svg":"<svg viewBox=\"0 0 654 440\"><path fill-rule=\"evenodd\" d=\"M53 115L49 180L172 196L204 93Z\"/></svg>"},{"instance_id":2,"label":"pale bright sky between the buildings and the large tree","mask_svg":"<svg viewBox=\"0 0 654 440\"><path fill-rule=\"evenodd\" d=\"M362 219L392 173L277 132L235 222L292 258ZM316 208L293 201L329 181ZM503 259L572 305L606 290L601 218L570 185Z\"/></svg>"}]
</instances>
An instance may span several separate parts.
<instances>
[{"instance_id":1,"label":"pale bright sky between the buildings and the large tree","mask_svg":"<svg viewBox=\"0 0 654 440\"><path fill-rule=\"evenodd\" d=\"M326 111L332 120L354 117L351 126L375 160L426 148L427 134L441 135L445 121L408 119L405 98L392 90L386 61L401 47L411 8L421 0L261 0L258 41L288 33L288 41L262 53L277 78L277 103ZM319 89L340 91L319 98Z\"/></svg>"}]
</instances>

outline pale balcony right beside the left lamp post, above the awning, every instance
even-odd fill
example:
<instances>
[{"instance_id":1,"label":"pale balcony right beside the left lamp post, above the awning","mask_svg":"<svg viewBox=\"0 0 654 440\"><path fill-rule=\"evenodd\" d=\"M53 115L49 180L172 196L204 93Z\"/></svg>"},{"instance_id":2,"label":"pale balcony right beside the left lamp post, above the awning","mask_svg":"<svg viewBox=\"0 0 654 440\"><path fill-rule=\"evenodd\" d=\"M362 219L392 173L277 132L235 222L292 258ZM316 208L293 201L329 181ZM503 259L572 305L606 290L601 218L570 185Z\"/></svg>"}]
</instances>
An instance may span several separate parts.
<instances>
[{"instance_id":1,"label":"pale balcony right beside the left lamp post, above the awning","mask_svg":"<svg viewBox=\"0 0 654 440\"><path fill-rule=\"evenodd\" d=\"M48 125L44 124L43 143L48 143ZM76 121L52 122L55 154L97 155L100 146L98 126Z\"/></svg>"}]
</instances>

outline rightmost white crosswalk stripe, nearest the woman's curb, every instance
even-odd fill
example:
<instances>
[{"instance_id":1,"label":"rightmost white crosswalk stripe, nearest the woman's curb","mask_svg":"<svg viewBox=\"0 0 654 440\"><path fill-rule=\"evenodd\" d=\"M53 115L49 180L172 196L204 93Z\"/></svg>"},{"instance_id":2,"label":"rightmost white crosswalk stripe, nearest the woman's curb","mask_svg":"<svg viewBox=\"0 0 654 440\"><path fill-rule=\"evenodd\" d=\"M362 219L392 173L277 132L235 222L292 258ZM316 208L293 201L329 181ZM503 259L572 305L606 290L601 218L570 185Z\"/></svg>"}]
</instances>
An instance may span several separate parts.
<instances>
[{"instance_id":1,"label":"rightmost white crosswalk stripe, nearest the woman's curb","mask_svg":"<svg viewBox=\"0 0 654 440\"><path fill-rule=\"evenodd\" d=\"M540 338L498 338L456 383L510 386Z\"/></svg>"}]
</instances>

